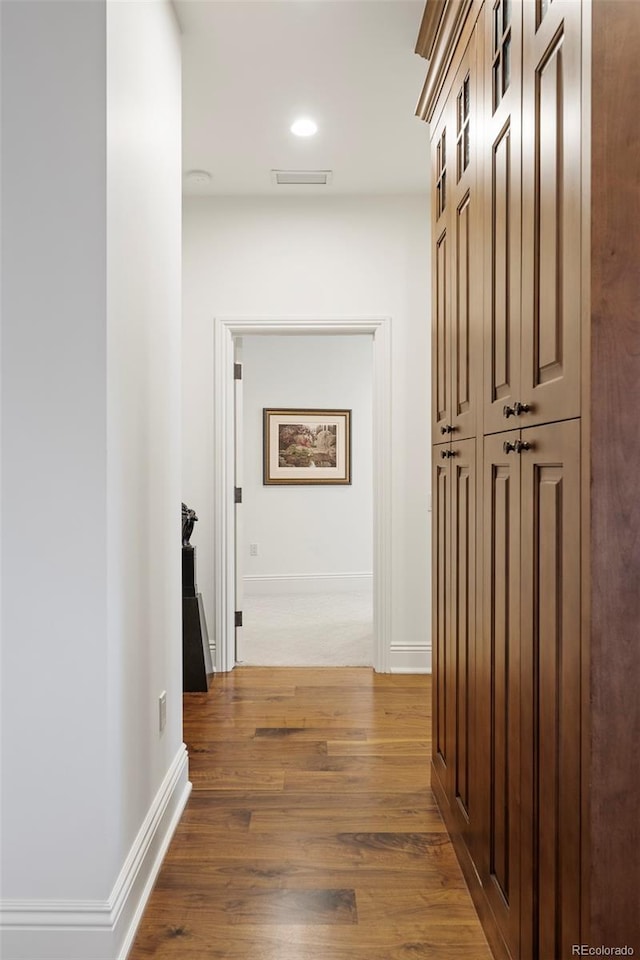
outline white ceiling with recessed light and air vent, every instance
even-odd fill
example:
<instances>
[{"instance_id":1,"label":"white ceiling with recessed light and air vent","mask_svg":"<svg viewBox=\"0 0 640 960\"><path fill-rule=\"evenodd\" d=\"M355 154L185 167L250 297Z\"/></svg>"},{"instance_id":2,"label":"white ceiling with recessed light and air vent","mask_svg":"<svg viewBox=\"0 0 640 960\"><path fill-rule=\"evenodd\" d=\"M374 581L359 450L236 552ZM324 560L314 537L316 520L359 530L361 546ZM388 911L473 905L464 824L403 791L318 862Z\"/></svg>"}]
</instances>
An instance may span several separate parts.
<instances>
[{"instance_id":1,"label":"white ceiling with recessed light and air vent","mask_svg":"<svg viewBox=\"0 0 640 960\"><path fill-rule=\"evenodd\" d=\"M183 30L185 193L426 192L423 0L174 0ZM300 115L318 133L289 131ZM330 169L330 186L275 186L272 169Z\"/></svg>"}]
</instances>

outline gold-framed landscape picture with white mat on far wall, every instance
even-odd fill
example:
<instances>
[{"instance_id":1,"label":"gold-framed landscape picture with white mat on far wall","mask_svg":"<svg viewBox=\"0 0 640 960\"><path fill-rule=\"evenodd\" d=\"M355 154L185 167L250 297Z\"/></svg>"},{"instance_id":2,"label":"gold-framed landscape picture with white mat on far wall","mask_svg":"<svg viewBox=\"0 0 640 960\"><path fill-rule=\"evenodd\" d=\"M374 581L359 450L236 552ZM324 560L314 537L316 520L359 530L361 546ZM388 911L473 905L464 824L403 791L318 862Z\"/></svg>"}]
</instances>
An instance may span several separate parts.
<instances>
[{"instance_id":1,"label":"gold-framed landscape picture with white mat on far wall","mask_svg":"<svg viewBox=\"0 0 640 960\"><path fill-rule=\"evenodd\" d=\"M351 410L264 410L264 483L351 483Z\"/></svg>"}]
</instances>

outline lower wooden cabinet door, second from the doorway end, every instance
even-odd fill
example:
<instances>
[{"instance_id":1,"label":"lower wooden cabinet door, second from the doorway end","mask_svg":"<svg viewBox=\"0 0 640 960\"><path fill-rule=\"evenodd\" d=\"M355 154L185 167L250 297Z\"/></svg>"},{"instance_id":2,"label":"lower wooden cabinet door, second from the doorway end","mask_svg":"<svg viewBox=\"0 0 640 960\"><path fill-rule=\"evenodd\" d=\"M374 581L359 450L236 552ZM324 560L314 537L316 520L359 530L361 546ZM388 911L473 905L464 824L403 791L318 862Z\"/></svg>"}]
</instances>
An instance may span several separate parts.
<instances>
[{"instance_id":1,"label":"lower wooden cabinet door, second from the doorway end","mask_svg":"<svg viewBox=\"0 0 640 960\"><path fill-rule=\"evenodd\" d=\"M454 716L450 803L458 828L471 848L471 824L477 817L476 441L454 441L451 452L451 695Z\"/></svg>"}]
</instances>

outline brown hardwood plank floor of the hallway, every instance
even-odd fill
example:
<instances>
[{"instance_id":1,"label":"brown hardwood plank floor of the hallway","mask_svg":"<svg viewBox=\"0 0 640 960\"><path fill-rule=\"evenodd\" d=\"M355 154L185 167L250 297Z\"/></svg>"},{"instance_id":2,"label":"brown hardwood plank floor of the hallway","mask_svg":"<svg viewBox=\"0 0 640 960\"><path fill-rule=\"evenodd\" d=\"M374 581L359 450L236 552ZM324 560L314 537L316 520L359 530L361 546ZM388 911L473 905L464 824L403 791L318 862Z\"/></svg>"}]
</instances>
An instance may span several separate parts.
<instances>
[{"instance_id":1,"label":"brown hardwood plank floor of the hallway","mask_svg":"<svg viewBox=\"0 0 640 960\"><path fill-rule=\"evenodd\" d=\"M490 960L429 789L430 678L239 667L129 960Z\"/></svg>"}]
</instances>

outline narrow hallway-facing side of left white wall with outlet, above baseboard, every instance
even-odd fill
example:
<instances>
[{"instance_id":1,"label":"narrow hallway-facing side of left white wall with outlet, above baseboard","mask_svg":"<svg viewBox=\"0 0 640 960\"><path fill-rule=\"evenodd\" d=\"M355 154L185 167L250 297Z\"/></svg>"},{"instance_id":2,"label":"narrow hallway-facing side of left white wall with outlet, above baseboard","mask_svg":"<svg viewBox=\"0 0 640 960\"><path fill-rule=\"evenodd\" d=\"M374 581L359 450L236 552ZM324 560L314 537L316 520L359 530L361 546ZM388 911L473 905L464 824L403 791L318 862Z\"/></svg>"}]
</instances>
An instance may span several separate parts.
<instances>
[{"instance_id":1,"label":"narrow hallway-facing side of left white wall with outlet, above baseboard","mask_svg":"<svg viewBox=\"0 0 640 960\"><path fill-rule=\"evenodd\" d=\"M182 743L181 63L169 3L114 2L107 14L107 599L121 864Z\"/></svg>"}]
</instances>

